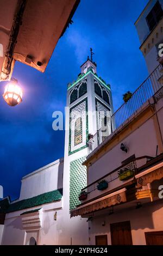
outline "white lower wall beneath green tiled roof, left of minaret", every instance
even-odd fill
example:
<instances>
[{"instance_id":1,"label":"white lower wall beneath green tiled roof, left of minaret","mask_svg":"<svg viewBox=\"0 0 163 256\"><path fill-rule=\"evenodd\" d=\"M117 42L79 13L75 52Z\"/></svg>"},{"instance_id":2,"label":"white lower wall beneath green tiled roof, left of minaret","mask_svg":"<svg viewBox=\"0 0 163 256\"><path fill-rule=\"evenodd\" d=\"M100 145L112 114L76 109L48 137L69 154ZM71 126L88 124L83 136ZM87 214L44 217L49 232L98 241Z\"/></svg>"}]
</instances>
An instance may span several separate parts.
<instances>
[{"instance_id":1,"label":"white lower wall beneath green tiled roof, left of minaret","mask_svg":"<svg viewBox=\"0 0 163 256\"><path fill-rule=\"evenodd\" d=\"M22 229L21 214L22 212L27 211L27 209L10 212L6 215L2 245L27 245L29 243L30 237L32 236L37 241L37 245L59 244L59 236L60 234L64 234L64 225L62 225L62 221L64 220L64 216L62 215L62 201L37 206L35 209L38 207L42 208L40 215L40 229L35 230L33 227L26 230ZM54 221L54 214L56 211L57 221Z\"/></svg>"}]
</instances>

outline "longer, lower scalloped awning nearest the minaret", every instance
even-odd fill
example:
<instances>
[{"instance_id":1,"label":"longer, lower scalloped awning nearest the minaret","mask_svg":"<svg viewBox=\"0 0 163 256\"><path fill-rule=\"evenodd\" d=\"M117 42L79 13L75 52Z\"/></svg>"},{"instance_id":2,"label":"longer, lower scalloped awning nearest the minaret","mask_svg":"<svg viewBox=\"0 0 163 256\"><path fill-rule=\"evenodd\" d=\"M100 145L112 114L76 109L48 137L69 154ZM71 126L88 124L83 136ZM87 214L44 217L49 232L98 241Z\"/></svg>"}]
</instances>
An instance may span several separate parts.
<instances>
[{"instance_id":1,"label":"longer, lower scalloped awning nearest the minaret","mask_svg":"<svg viewBox=\"0 0 163 256\"><path fill-rule=\"evenodd\" d=\"M114 193L108 194L107 196L79 206L78 208L71 211L71 217L89 214L90 212L102 210L113 205L124 203L126 201L126 188L123 188L122 190L118 190Z\"/></svg>"}]
</instances>

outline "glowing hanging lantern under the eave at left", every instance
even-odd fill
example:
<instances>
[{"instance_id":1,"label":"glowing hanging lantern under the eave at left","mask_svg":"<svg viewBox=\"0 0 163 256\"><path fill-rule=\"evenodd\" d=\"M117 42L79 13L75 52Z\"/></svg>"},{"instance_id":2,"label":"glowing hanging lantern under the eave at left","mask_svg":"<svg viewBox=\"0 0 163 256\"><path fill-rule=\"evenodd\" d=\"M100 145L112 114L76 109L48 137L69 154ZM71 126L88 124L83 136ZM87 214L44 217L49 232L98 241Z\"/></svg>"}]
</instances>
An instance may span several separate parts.
<instances>
[{"instance_id":1,"label":"glowing hanging lantern under the eave at left","mask_svg":"<svg viewBox=\"0 0 163 256\"><path fill-rule=\"evenodd\" d=\"M3 99L8 105L14 107L22 102L22 89L18 86L17 80L11 78L11 82L5 86Z\"/></svg>"}]
</instances>

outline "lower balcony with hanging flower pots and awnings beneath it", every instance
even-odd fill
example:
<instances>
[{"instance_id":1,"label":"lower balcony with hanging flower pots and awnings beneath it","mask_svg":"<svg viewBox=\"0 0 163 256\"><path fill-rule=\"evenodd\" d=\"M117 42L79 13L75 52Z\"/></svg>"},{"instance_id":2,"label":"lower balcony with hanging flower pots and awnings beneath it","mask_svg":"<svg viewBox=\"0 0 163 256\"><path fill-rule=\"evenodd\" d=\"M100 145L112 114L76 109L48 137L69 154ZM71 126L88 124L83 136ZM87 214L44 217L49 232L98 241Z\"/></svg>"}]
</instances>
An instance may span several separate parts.
<instances>
[{"instance_id":1,"label":"lower balcony with hanging flower pots and awnings beneath it","mask_svg":"<svg viewBox=\"0 0 163 256\"><path fill-rule=\"evenodd\" d=\"M159 200L158 185L163 177L162 160L162 154L157 157L137 157L92 182L82 189L87 197L77 208L71 210L71 217L80 215L88 218L105 209L106 214L112 214L113 208L116 211L135 208ZM126 171L129 171L128 175L124 175ZM103 191L98 190L101 180L108 183Z\"/></svg>"}]
</instances>

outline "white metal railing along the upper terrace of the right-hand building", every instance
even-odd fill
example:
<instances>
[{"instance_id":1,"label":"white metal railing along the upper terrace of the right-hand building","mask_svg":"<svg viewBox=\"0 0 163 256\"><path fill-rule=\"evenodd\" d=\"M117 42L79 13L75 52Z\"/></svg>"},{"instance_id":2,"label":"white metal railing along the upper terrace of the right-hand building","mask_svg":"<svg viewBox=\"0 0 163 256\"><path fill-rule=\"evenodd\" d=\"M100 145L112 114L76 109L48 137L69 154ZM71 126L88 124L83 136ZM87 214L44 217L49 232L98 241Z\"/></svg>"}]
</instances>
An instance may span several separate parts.
<instances>
[{"instance_id":1,"label":"white metal railing along the upper terrace of the right-hand building","mask_svg":"<svg viewBox=\"0 0 163 256\"><path fill-rule=\"evenodd\" d=\"M115 132L120 126L126 124L128 119L135 115L142 105L147 102L152 96L154 101L158 101L163 95L163 68L160 64L153 73L141 84L139 88L135 90L131 98L117 109L117 111L111 116L112 132ZM88 153L90 154L95 150L98 145L108 138L103 136L102 130L98 130L97 133L90 138L88 142Z\"/></svg>"}]
</instances>

